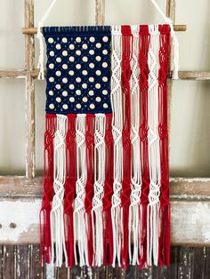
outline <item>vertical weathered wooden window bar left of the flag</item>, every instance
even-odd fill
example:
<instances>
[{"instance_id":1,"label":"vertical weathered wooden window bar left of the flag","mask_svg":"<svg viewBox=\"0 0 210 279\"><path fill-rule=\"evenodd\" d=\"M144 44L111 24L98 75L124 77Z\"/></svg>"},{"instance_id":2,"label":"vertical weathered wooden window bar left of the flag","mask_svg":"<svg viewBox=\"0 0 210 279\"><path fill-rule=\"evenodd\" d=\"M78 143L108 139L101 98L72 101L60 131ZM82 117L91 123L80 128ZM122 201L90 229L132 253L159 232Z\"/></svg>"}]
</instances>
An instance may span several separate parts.
<instances>
[{"instance_id":1,"label":"vertical weathered wooden window bar left of the flag","mask_svg":"<svg viewBox=\"0 0 210 279\"><path fill-rule=\"evenodd\" d=\"M34 28L34 0L25 0L25 26ZM31 71L35 68L35 40L33 35L25 36L26 68L26 177L35 177L35 81Z\"/></svg>"}]
</instances>

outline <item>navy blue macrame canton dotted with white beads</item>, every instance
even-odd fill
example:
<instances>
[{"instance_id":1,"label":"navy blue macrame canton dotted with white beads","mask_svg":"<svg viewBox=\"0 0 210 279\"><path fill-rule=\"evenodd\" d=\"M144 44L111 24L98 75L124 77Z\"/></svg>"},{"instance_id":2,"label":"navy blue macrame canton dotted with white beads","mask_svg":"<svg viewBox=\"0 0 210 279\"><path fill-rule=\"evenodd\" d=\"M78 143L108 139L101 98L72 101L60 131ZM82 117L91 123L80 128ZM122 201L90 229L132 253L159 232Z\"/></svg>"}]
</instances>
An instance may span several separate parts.
<instances>
[{"instance_id":1,"label":"navy blue macrame canton dotted with white beads","mask_svg":"<svg viewBox=\"0 0 210 279\"><path fill-rule=\"evenodd\" d=\"M46 112L110 113L110 27L43 28Z\"/></svg>"}]
</instances>

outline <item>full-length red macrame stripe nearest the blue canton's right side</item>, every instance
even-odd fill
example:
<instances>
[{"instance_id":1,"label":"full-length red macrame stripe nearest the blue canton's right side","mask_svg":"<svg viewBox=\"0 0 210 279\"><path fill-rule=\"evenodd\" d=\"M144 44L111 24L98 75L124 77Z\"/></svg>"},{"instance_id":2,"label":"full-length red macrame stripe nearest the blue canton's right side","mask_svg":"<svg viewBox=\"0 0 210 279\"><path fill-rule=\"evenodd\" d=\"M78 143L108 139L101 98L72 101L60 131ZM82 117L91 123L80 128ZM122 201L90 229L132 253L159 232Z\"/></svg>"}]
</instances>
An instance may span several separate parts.
<instances>
[{"instance_id":1,"label":"full-length red macrame stripe nearest the blue canton's right side","mask_svg":"<svg viewBox=\"0 0 210 279\"><path fill-rule=\"evenodd\" d=\"M129 205L131 194L131 166L132 166L132 147L131 147L131 95L130 95L130 77L131 77L131 60L133 35L130 26L122 26L122 100L123 100L123 179L121 192L121 208L123 220L123 237L122 237L122 267L128 266L128 220Z\"/></svg>"}]
</instances>

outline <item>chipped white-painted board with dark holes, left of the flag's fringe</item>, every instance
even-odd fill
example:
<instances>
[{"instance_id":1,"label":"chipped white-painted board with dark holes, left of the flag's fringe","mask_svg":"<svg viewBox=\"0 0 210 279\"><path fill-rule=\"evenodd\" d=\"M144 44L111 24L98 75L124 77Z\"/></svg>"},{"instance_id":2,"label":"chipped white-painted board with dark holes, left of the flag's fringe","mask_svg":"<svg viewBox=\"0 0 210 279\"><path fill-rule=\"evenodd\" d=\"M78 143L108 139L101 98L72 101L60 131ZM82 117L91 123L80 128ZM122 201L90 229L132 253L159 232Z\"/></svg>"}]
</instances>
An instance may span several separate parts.
<instances>
[{"instance_id":1,"label":"chipped white-painted board with dark holes, left of the flag's fringe","mask_svg":"<svg viewBox=\"0 0 210 279\"><path fill-rule=\"evenodd\" d=\"M1 200L0 243L33 243L35 238L37 242L40 207L38 199Z\"/></svg>"}]
</instances>

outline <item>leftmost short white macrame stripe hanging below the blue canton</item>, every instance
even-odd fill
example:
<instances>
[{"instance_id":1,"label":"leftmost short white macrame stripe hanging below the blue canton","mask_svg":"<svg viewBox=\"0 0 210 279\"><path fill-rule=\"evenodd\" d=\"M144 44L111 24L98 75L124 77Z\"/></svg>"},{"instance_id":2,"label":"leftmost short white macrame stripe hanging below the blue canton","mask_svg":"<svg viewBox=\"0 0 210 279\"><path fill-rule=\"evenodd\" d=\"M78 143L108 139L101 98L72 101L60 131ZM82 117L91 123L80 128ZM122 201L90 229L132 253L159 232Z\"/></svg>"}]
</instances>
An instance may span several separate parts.
<instances>
[{"instance_id":1,"label":"leftmost short white macrame stripe hanging below the blue canton","mask_svg":"<svg viewBox=\"0 0 210 279\"><path fill-rule=\"evenodd\" d=\"M52 199L51 211L51 236L55 241L55 266L61 267L63 262L63 251L66 262L67 251L64 235L63 220L63 197L64 183L66 179L66 132L67 132L67 116L57 115L57 131L54 137L54 196ZM52 265L54 264L54 247L52 245Z\"/></svg>"}]
</instances>

